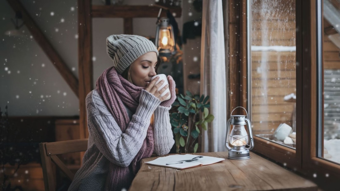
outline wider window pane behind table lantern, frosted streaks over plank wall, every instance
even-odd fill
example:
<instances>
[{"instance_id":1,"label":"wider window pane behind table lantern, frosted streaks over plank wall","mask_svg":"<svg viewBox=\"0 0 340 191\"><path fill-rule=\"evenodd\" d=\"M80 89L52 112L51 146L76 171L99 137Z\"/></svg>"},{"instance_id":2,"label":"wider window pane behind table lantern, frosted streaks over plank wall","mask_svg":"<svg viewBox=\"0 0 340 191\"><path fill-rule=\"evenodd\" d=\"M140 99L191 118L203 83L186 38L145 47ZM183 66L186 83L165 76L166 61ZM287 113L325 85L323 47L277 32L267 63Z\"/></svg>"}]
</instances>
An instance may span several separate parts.
<instances>
[{"instance_id":1,"label":"wider window pane behind table lantern, frosted streaks over plank wall","mask_svg":"<svg viewBox=\"0 0 340 191\"><path fill-rule=\"evenodd\" d=\"M295 0L250 0L253 134L295 148Z\"/></svg>"}]
</instances>

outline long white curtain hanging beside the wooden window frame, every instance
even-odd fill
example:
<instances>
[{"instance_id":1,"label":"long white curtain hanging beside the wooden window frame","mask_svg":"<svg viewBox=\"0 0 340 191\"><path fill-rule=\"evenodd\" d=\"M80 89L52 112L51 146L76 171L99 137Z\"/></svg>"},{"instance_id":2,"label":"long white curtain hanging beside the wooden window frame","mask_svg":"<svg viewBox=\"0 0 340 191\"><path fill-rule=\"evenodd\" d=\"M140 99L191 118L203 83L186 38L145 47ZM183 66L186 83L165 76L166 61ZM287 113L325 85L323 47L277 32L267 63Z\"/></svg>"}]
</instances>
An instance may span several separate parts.
<instances>
[{"instance_id":1,"label":"long white curtain hanging beside the wooden window frame","mask_svg":"<svg viewBox=\"0 0 340 191\"><path fill-rule=\"evenodd\" d=\"M202 152L226 151L226 67L222 0L203 0L201 41L201 94L210 96L215 119L204 131Z\"/></svg>"}]
</instances>

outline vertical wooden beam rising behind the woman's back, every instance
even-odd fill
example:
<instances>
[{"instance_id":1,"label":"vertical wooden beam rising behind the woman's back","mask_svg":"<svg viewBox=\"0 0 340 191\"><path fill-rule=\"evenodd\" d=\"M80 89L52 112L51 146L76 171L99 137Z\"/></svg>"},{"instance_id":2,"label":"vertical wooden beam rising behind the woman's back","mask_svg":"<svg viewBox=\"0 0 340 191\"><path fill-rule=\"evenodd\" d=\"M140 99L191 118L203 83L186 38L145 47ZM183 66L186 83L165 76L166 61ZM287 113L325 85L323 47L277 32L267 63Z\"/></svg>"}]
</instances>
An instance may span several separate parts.
<instances>
[{"instance_id":1,"label":"vertical wooden beam rising behind the woman's back","mask_svg":"<svg viewBox=\"0 0 340 191\"><path fill-rule=\"evenodd\" d=\"M78 69L80 138L88 138L86 95L92 90L92 19L91 1L78 0Z\"/></svg>"}]
</instances>

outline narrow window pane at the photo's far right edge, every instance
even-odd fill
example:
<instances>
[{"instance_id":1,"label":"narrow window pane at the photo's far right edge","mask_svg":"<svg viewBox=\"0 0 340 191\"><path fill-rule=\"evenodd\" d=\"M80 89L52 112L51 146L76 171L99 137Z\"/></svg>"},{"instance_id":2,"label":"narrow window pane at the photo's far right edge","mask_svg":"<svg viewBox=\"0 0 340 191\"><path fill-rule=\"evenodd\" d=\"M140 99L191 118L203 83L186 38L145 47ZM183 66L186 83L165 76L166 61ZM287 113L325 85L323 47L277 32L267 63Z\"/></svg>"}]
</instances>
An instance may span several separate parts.
<instances>
[{"instance_id":1,"label":"narrow window pane at the photo's far right edge","mask_svg":"<svg viewBox=\"0 0 340 191\"><path fill-rule=\"evenodd\" d=\"M324 147L319 155L340 163L340 11L333 3L324 0L323 6Z\"/></svg>"}]
</instances>

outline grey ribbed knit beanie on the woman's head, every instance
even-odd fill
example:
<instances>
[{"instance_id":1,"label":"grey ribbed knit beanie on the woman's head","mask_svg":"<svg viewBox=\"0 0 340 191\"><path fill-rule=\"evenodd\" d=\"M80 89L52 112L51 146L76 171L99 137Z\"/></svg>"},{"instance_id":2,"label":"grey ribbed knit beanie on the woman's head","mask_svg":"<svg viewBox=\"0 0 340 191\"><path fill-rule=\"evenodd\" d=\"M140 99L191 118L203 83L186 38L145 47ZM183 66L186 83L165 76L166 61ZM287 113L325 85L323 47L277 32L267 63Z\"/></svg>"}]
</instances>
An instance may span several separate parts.
<instances>
[{"instance_id":1,"label":"grey ribbed knit beanie on the woman's head","mask_svg":"<svg viewBox=\"0 0 340 191\"><path fill-rule=\"evenodd\" d=\"M151 40L137 35L111 35L106 38L107 54L118 74L122 74L141 55L158 51Z\"/></svg>"}]
</instances>

